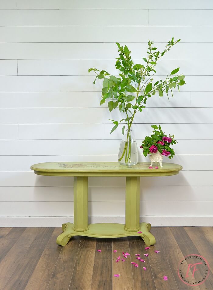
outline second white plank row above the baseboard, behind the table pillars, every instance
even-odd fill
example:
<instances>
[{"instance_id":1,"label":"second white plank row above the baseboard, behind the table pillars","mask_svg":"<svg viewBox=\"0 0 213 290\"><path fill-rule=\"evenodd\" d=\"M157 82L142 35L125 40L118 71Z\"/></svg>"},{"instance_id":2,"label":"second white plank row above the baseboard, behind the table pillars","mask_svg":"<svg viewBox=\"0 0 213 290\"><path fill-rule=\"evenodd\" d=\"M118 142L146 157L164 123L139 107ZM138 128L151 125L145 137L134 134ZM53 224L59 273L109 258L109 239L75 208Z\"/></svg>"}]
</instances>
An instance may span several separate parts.
<instances>
[{"instance_id":1,"label":"second white plank row above the baseboard, behind the table pillars","mask_svg":"<svg viewBox=\"0 0 213 290\"><path fill-rule=\"evenodd\" d=\"M212 201L211 186L141 186L140 190L141 201ZM0 201L73 201L73 186L1 186ZM88 201L125 201L125 186L89 186Z\"/></svg>"}]
</instances>

